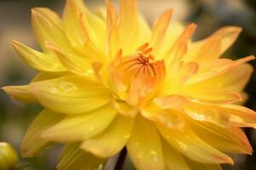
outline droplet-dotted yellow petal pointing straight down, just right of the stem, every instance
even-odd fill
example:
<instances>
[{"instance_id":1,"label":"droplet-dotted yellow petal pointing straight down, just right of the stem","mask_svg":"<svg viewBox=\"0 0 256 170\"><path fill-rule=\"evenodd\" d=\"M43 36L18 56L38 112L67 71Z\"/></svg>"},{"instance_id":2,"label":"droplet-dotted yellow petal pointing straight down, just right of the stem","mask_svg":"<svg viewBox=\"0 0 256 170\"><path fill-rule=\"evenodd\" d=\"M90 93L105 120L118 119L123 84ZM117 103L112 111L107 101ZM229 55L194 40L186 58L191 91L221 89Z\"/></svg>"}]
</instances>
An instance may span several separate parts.
<instances>
[{"instance_id":1,"label":"droplet-dotted yellow petal pointing straight down, just right of the stem","mask_svg":"<svg viewBox=\"0 0 256 170\"><path fill-rule=\"evenodd\" d=\"M126 147L137 169L164 169L160 136L152 122L137 116Z\"/></svg>"}]
</instances>

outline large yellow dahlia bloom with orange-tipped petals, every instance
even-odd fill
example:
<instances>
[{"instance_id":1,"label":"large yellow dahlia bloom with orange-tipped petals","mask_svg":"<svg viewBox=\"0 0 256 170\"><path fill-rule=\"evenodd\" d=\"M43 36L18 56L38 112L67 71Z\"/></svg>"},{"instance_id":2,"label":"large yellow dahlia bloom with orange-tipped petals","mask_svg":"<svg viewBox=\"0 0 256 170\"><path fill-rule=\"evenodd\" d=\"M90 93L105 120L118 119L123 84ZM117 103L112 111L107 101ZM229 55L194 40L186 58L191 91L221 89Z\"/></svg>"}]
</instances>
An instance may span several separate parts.
<instances>
[{"instance_id":1,"label":"large yellow dahlia bloom with orange-tipped petals","mask_svg":"<svg viewBox=\"0 0 256 170\"><path fill-rule=\"evenodd\" d=\"M227 153L252 154L240 127L256 127L256 115L238 102L254 57L219 58L241 28L192 42L195 24L170 24L171 9L152 29L136 0L121 0L119 13L107 0L106 11L91 14L82 0L67 0L62 19L32 9L43 52L13 45L39 73L3 88L45 108L28 127L22 156L63 143L58 169L95 169L126 147L137 169L215 170L233 164Z\"/></svg>"}]
</instances>

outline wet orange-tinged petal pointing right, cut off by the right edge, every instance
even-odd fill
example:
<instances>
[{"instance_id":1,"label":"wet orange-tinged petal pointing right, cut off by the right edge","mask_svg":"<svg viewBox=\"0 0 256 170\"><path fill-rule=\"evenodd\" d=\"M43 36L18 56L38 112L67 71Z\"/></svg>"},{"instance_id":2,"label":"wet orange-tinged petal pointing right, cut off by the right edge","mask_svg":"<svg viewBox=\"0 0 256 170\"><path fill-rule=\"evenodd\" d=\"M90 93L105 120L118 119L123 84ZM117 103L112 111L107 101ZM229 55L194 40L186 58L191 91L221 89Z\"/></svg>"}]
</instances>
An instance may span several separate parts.
<instances>
[{"instance_id":1,"label":"wet orange-tinged petal pointing right, cut off by the right edge","mask_svg":"<svg viewBox=\"0 0 256 170\"><path fill-rule=\"evenodd\" d=\"M255 127L256 113L241 105L211 105L190 102L184 106L186 114L195 120L212 122L218 126Z\"/></svg>"}]
</instances>

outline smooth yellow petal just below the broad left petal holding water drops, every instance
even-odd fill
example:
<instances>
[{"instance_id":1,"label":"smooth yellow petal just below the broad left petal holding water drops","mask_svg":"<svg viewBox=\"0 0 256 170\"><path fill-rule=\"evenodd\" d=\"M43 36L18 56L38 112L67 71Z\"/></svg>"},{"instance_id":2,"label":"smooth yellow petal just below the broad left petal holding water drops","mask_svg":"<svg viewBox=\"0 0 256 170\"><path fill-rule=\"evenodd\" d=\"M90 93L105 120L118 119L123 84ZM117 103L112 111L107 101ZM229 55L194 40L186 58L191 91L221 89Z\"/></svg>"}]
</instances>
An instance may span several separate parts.
<instances>
[{"instance_id":1,"label":"smooth yellow petal just below the broad left petal holding water drops","mask_svg":"<svg viewBox=\"0 0 256 170\"><path fill-rule=\"evenodd\" d=\"M112 105L105 105L88 113L65 116L61 122L42 133L44 139L56 142L73 142L89 139L102 133L116 116Z\"/></svg>"}]
</instances>

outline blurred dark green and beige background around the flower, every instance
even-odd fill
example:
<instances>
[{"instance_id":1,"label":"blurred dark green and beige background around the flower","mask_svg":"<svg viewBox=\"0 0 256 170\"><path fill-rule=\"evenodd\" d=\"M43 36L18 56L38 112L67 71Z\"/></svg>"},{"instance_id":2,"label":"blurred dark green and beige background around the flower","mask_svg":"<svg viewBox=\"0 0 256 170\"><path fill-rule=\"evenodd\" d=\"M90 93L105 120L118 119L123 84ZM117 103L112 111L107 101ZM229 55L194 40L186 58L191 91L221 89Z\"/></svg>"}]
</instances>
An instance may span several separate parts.
<instances>
[{"instance_id":1,"label":"blurred dark green and beige background around the flower","mask_svg":"<svg viewBox=\"0 0 256 170\"><path fill-rule=\"evenodd\" d=\"M85 1L91 10L103 6L104 0ZM116 2L116 1L113 1ZM10 41L17 40L37 48L30 26L30 9L33 7L52 8L61 14L65 1L61 0L0 0L0 87L22 85L30 82L36 74L21 61ZM195 22L198 29L195 40L210 35L221 26L241 26L243 31L235 45L225 54L233 59L256 55L256 1L255 0L138 0L140 11L150 24L164 9L174 8L172 20L184 23ZM255 61L251 62L255 67ZM256 72L246 88L249 98L247 107L256 110ZM20 150L20 141L26 127L41 110L39 105L24 105L0 91L0 141L6 141ZM245 129L248 139L256 150L256 130ZM29 169L55 169L61 146L44 150L37 157L21 159L29 162ZM256 169L256 154L234 156L235 167L224 166L229 170ZM125 169L131 169L128 162Z\"/></svg>"}]
</instances>

